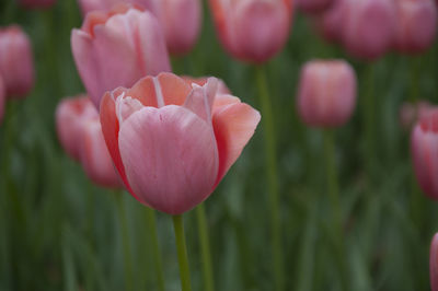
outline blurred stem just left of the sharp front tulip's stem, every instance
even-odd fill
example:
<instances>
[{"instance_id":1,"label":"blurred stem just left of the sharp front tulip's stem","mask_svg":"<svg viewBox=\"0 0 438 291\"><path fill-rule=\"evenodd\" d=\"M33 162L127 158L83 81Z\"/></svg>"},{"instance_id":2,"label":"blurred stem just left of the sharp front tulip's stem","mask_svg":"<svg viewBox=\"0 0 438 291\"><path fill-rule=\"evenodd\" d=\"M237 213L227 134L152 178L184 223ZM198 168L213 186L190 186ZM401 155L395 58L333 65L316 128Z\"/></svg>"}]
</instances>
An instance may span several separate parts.
<instances>
[{"instance_id":1,"label":"blurred stem just left of the sharp front tulip's stem","mask_svg":"<svg viewBox=\"0 0 438 291\"><path fill-rule=\"evenodd\" d=\"M158 289L160 291L164 291L165 284L164 284L163 265L161 261L161 251L158 241L155 211L151 208L146 207L145 213L148 220L148 225L150 231L149 235L150 238L152 240L153 261L155 264L157 283L159 287Z\"/></svg>"}]
</instances>

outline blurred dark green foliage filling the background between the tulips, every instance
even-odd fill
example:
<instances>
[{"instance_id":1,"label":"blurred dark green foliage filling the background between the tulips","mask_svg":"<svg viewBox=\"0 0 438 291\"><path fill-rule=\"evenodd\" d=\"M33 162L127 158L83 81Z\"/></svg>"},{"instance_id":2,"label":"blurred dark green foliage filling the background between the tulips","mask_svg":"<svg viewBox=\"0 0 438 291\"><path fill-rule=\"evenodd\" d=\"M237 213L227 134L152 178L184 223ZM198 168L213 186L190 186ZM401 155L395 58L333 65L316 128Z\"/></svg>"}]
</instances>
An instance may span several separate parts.
<instances>
[{"instance_id":1,"label":"blurred dark green foliage filling the background between the tulips","mask_svg":"<svg viewBox=\"0 0 438 291\"><path fill-rule=\"evenodd\" d=\"M172 59L173 71L224 80L233 95L260 109L254 67L232 59L220 44L208 5L198 43ZM82 16L76 0L46 10L0 3L0 24L20 24L32 40L36 82L23 100L8 101L0 126L0 290L124 290L118 193L93 185L60 148L55 108L84 92L70 49ZM410 132L401 104L438 100L437 44L419 56L389 53L372 61L350 58L323 40L295 13L290 37L266 63L278 148L281 241L286 290L338 290L330 237L323 136L296 110L301 66L314 58L345 58L358 77L354 117L336 130L336 166L349 290L428 290L429 244L438 231L437 205L413 176ZM372 95L376 144L371 175L362 108ZM217 290L274 290L263 128L206 201ZM135 290L155 290L143 206L124 194ZM194 211L185 214L194 290L203 289ZM168 290L180 290L172 220L158 213Z\"/></svg>"}]
</instances>

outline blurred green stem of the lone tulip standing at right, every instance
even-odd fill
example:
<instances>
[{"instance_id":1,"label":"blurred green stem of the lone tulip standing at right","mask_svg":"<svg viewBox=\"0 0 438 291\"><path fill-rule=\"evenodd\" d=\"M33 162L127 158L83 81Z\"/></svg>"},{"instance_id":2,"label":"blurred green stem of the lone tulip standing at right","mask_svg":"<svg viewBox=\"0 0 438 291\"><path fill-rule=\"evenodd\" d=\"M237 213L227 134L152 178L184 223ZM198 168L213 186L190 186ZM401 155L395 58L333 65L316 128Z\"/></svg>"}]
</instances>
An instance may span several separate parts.
<instances>
[{"instance_id":1,"label":"blurred green stem of the lone tulip standing at right","mask_svg":"<svg viewBox=\"0 0 438 291\"><path fill-rule=\"evenodd\" d=\"M342 207L335 162L334 132L330 129L324 130L324 155L326 163L326 183L328 189L328 199L332 210L332 238L335 240L334 253L336 255L336 261L341 273L341 283L343 290L349 290L347 283L348 276L345 258L345 235L343 231Z\"/></svg>"}]
</instances>

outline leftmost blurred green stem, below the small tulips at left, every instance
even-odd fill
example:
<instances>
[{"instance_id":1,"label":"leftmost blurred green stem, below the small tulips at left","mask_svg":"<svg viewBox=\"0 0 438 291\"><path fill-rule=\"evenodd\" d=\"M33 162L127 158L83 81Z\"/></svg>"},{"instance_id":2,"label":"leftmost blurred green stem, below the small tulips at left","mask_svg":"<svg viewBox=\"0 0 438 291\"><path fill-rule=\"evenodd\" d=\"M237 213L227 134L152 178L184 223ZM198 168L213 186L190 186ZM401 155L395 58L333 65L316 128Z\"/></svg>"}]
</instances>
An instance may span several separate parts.
<instances>
[{"instance_id":1,"label":"leftmost blurred green stem, below the small tulips at left","mask_svg":"<svg viewBox=\"0 0 438 291\"><path fill-rule=\"evenodd\" d=\"M115 193L118 221L120 223L122 230L122 245L123 245L123 256L124 256L124 267L125 267L125 289L127 291L132 291L132 261L130 258L130 246L129 246L129 233L128 233L128 221L126 218L125 203L124 203L124 193Z\"/></svg>"}]
</instances>

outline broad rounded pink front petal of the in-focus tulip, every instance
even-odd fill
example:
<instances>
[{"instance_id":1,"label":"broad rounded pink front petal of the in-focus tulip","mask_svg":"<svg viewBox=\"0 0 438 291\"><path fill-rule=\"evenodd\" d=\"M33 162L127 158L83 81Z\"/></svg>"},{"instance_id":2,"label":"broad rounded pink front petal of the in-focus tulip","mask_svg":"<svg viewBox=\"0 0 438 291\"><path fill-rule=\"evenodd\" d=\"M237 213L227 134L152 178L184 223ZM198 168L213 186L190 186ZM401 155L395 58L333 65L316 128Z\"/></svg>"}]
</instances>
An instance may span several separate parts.
<instances>
[{"instance_id":1,"label":"broad rounded pink front petal of the in-focus tulip","mask_svg":"<svg viewBox=\"0 0 438 291\"><path fill-rule=\"evenodd\" d=\"M211 127L180 106L145 107L122 126L119 149L141 202L183 213L205 200L218 174Z\"/></svg>"}]
</instances>

